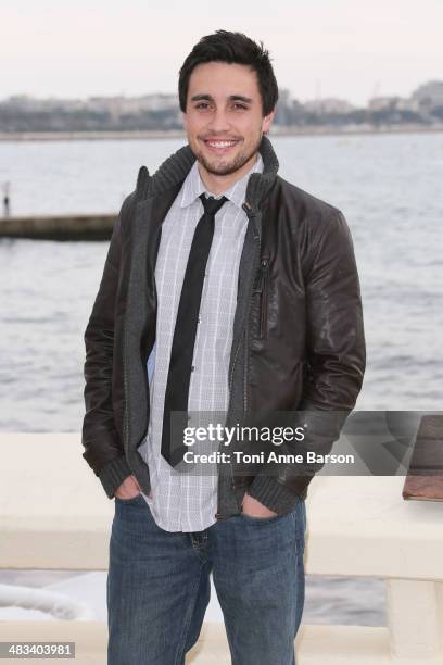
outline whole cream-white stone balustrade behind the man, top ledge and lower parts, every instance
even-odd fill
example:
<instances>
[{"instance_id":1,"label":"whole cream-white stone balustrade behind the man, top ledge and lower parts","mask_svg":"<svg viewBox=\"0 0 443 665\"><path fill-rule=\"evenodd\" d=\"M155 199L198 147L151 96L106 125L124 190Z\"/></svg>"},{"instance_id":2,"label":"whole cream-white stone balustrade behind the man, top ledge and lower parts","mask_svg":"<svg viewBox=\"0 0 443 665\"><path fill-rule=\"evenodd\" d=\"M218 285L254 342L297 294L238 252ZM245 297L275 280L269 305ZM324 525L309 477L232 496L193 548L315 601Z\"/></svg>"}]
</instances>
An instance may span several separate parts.
<instances>
[{"instance_id":1,"label":"whole cream-white stone balustrade behind the man, top ledge and lower parts","mask_svg":"<svg viewBox=\"0 0 443 665\"><path fill-rule=\"evenodd\" d=\"M80 435L2 432L0 444L0 568L106 570L114 502L81 457ZM404 501L403 484L402 476L313 479L306 573L384 579L388 624L302 620L298 665L443 665L442 504ZM75 641L77 665L105 665L106 639L96 620L0 620L0 641ZM204 623L186 663L230 664L223 624Z\"/></svg>"}]
</instances>

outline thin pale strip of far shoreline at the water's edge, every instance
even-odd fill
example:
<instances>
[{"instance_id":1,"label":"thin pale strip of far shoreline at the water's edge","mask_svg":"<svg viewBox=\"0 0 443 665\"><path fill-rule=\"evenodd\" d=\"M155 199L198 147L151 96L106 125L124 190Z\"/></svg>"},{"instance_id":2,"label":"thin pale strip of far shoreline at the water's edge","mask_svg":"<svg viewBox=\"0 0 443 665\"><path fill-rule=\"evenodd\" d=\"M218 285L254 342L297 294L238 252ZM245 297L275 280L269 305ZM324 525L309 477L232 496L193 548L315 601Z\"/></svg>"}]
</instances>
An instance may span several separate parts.
<instances>
[{"instance_id":1,"label":"thin pale strip of far shoreline at the water's edge","mask_svg":"<svg viewBox=\"0 0 443 665\"><path fill-rule=\"evenodd\" d=\"M321 126L321 127L275 127L270 138L280 136L358 136L365 134L435 134L443 131L443 123L439 125L356 125L356 126ZM130 131L11 131L0 133L0 141L79 141L79 140L142 140L142 139L175 139L185 138L185 133L170 130L130 130Z\"/></svg>"}]
</instances>

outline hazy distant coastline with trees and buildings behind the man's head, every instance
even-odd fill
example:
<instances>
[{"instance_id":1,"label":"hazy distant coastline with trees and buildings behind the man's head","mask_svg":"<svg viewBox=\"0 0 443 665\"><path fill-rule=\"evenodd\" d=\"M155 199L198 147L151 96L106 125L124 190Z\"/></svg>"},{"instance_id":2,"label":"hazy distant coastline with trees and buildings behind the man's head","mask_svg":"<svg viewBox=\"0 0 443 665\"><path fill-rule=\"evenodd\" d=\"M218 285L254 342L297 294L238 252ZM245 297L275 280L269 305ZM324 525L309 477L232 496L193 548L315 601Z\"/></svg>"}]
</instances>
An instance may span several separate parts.
<instances>
[{"instance_id":1,"label":"hazy distant coastline with trees and buildings behind the man's head","mask_svg":"<svg viewBox=\"0 0 443 665\"><path fill-rule=\"evenodd\" d=\"M345 99L300 101L279 90L270 135L353 136L443 131L443 80L428 80L409 97L371 97L357 108ZM177 93L88 99L15 95L0 100L1 141L182 139Z\"/></svg>"}]
</instances>

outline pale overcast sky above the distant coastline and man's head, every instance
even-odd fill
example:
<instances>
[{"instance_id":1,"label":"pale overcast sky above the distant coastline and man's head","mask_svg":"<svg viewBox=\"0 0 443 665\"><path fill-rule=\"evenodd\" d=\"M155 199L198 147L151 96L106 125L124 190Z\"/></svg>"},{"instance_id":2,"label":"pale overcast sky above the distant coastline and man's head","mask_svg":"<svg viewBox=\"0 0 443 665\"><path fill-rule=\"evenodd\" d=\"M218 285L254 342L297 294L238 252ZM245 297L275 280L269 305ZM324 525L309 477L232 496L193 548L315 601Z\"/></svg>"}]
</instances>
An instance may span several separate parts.
<instances>
[{"instance_id":1,"label":"pale overcast sky above the distant coastline and man's head","mask_svg":"<svg viewBox=\"0 0 443 665\"><path fill-rule=\"evenodd\" d=\"M239 30L307 101L408 97L443 79L442 0L2 0L0 99L176 92L193 45Z\"/></svg>"}]
</instances>

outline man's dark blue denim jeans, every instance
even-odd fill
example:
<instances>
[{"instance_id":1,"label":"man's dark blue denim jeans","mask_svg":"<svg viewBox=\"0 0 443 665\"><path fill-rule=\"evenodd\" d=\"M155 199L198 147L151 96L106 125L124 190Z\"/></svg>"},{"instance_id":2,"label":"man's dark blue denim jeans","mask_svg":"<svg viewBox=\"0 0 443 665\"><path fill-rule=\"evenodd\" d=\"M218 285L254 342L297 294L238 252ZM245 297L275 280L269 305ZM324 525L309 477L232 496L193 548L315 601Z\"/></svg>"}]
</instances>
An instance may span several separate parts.
<instances>
[{"instance_id":1,"label":"man's dark blue denim jeans","mask_svg":"<svg viewBox=\"0 0 443 665\"><path fill-rule=\"evenodd\" d=\"M210 574L232 665L295 665L304 604L305 502L288 515L239 514L169 532L141 494L115 499L107 574L107 665L183 665L210 601Z\"/></svg>"}]
</instances>

